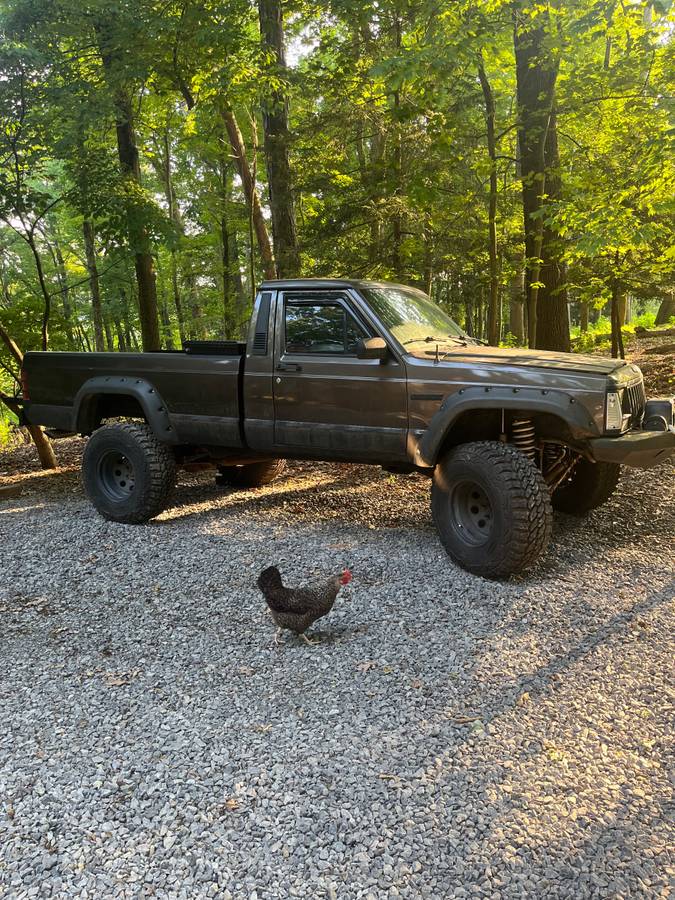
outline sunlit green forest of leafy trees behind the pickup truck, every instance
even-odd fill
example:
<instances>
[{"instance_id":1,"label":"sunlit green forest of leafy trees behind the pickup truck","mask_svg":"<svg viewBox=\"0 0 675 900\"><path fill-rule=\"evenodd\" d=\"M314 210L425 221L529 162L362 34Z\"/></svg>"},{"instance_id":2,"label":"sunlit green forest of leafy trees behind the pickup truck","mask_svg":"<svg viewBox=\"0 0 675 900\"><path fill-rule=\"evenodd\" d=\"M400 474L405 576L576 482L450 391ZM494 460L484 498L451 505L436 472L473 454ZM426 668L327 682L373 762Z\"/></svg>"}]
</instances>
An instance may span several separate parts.
<instances>
[{"instance_id":1,"label":"sunlit green forest of leafy trees behind the pickup truck","mask_svg":"<svg viewBox=\"0 0 675 900\"><path fill-rule=\"evenodd\" d=\"M620 355L675 316L670 6L1 0L0 408L26 350L239 336L295 275Z\"/></svg>"}]
</instances>

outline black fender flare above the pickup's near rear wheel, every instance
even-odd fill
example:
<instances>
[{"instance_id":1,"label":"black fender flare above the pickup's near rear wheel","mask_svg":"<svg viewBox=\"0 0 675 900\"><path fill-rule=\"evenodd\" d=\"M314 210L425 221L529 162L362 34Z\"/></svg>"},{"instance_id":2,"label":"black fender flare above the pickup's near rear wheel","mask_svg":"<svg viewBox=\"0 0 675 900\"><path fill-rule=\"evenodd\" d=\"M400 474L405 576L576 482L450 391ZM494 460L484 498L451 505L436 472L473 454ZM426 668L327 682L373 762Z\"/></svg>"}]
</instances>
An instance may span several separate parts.
<instances>
[{"instance_id":1,"label":"black fender flare above the pickup's near rear wheel","mask_svg":"<svg viewBox=\"0 0 675 900\"><path fill-rule=\"evenodd\" d=\"M157 389L144 378L129 378L125 375L100 375L85 381L73 401L74 432L82 434L90 430L92 409L102 394L133 397L138 401L157 440L165 444L176 443L169 411Z\"/></svg>"}]
</instances>

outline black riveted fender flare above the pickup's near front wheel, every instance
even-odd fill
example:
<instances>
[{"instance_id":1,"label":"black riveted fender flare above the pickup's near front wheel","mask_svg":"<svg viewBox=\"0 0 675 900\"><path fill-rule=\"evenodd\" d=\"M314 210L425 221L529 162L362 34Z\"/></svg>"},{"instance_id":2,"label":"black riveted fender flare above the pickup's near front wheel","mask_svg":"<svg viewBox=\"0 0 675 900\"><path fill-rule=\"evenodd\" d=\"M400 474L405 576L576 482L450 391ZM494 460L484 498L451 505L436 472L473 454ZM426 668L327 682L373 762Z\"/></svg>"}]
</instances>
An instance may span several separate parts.
<instances>
[{"instance_id":1,"label":"black riveted fender flare above the pickup's near front wheel","mask_svg":"<svg viewBox=\"0 0 675 900\"><path fill-rule=\"evenodd\" d=\"M474 409L517 409L549 413L562 419L579 441L598 436L598 428L583 404L571 394L542 388L467 387L446 397L415 448L415 465L436 465L443 442L457 419Z\"/></svg>"}]
</instances>

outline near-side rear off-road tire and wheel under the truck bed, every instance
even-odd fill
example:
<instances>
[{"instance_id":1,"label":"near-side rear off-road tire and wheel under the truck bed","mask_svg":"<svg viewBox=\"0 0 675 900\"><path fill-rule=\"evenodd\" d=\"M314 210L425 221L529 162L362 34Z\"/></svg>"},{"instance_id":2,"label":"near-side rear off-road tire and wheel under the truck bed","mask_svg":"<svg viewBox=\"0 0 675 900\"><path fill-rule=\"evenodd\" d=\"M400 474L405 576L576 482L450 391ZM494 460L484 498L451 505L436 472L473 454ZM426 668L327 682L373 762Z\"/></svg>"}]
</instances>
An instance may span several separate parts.
<instances>
[{"instance_id":1,"label":"near-side rear off-road tire and wheel under the truck bed","mask_svg":"<svg viewBox=\"0 0 675 900\"><path fill-rule=\"evenodd\" d=\"M115 470L115 460L124 460ZM118 475L115 475L115 471ZM129 482L119 473L131 473ZM147 425L104 425L87 441L82 456L87 497L106 519L138 525L162 512L176 482L173 451Z\"/></svg>"}]
</instances>

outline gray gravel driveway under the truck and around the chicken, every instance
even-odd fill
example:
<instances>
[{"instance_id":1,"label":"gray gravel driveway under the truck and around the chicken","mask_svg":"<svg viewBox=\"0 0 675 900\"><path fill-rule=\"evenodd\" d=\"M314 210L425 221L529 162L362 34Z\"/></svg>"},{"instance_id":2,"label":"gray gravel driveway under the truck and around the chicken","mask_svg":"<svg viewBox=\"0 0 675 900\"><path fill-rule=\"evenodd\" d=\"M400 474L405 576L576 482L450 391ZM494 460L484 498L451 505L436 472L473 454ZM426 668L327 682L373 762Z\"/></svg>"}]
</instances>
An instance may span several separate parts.
<instances>
[{"instance_id":1,"label":"gray gravel driveway under the truck and around the chicken","mask_svg":"<svg viewBox=\"0 0 675 900\"><path fill-rule=\"evenodd\" d=\"M508 584L377 469L4 500L0 896L668 896L674 500L629 473ZM269 563L353 567L320 646L274 649Z\"/></svg>"}]
</instances>

